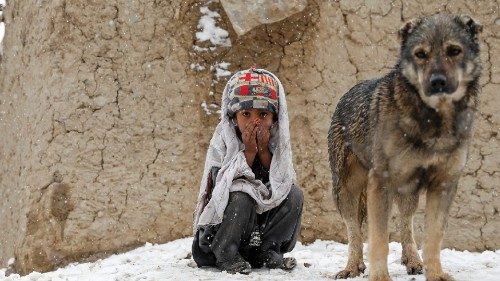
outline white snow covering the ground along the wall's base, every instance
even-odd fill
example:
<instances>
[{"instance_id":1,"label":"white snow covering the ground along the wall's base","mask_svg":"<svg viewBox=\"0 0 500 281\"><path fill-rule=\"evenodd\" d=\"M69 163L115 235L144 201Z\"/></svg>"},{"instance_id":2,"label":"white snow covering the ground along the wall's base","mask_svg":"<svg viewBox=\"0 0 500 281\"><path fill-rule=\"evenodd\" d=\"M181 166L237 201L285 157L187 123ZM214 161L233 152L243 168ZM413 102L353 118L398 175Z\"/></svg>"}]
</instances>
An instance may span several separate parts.
<instances>
[{"instance_id":1,"label":"white snow covering the ground along the wall's base","mask_svg":"<svg viewBox=\"0 0 500 281\"><path fill-rule=\"evenodd\" d=\"M291 272L281 269L256 269L250 275L231 275L216 268L197 268L190 257L191 243L192 238L161 245L147 243L130 252L113 255L94 263L75 263L53 272L34 272L24 277L17 274L4 277L3 269L0 270L0 280L331 280L347 260L347 245L318 240L307 246L297 244L290 255L297 258L298 266ZM425 280L423 275L406 274L405 267L401 265L400 244L391 243L389 249L389 272L394 281ZM441 256L443 267L456 280L500 280L500 250L470 253L445 249ZM367 279L365 274L363 277L349 280Z\"/></svg>"}]
</instances>

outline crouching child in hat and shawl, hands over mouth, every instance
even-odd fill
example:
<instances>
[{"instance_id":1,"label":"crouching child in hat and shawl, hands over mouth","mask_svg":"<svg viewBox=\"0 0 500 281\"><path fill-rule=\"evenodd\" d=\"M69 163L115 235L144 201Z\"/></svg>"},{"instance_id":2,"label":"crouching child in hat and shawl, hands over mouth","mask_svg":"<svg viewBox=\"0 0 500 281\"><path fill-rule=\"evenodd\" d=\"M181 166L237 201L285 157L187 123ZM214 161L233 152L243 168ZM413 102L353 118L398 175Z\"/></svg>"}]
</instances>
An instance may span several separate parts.
<instances>
[{"instance_id":1,"label":"crouching child in hat and shawl, hands over mouth","mask_svg":"<svg viewBox=\"0 0 500 281\"><path fill-rule=\"evenodd\" d=\"M263 69L234 74L207 151L194 218L193 258L249 274L291 270L283 258L297 241L303 195L295 184L285 92Z\"/></svg>"}]
</instances>

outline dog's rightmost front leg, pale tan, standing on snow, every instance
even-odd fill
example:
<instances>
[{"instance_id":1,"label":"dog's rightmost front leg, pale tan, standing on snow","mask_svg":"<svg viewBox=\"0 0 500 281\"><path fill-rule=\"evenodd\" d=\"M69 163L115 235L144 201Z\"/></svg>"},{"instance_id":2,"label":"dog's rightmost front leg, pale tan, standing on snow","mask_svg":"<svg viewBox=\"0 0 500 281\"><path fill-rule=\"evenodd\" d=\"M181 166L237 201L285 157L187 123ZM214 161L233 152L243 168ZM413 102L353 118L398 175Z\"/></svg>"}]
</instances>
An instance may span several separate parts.
<instances>
[{"instance_id":1,"label":"dog's rightmost front leg, pale tan, standing on snow","mask_svg":"<svg viewBox=\"0 0 500 281\"><path fill-rule=\"evenodd\" d=\"M427 281L448 281L453 278L441 267L441 242L446 220L457 190L457 180L440 181L427 189L425 204L424 266Z\"/></svg>"}]
</instances>

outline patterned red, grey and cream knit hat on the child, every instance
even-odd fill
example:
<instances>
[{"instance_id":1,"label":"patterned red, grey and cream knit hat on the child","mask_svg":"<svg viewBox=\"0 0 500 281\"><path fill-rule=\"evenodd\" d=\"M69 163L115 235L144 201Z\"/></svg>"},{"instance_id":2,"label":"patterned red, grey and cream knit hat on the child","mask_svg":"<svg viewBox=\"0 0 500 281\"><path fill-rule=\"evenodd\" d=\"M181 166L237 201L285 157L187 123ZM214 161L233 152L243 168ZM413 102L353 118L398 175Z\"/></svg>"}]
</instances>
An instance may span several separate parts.
<instances>
[{"instance_id":1,"label":"patterned red, grey and cream knit hat on the child","mask_svg":"<svg viewBox=\"0 0 500 281\"><path fill-rule=\"evenodd\" d=\"M237 72L229 79L228 114L233 117L242 109L258 108L278 113L278 83L270 74L254 67Z\"/></svg>"}]
</instances>

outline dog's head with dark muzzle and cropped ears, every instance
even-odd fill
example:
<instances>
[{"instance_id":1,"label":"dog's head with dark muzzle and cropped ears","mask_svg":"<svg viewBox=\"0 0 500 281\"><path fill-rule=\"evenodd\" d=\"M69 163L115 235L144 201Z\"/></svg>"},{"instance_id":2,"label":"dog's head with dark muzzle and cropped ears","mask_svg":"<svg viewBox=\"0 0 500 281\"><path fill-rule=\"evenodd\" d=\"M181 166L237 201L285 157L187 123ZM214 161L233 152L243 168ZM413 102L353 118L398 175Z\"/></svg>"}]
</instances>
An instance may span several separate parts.
<instances>
[{"instance_id":1,"label":"dog's head with dark muzzle and cropped ears","mask_svg":"<svg viewBox=\"0 0 500 281\"><path fill-rule=\"evenodd\" d=\"M458 101L481 73L478 34L482 26L466 15L436 14L414 19L399 31L401 73L420 98L438 109Z\"/></svg>"}]
</instances>

